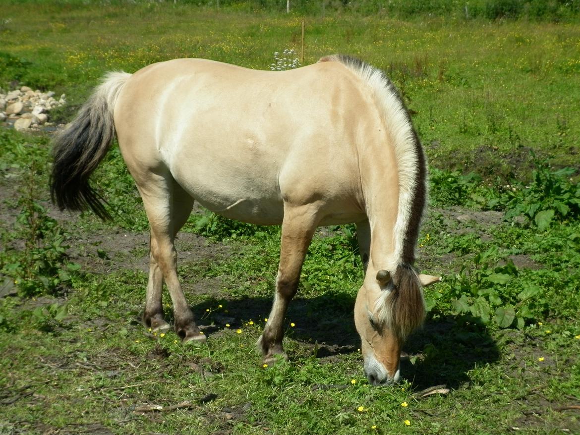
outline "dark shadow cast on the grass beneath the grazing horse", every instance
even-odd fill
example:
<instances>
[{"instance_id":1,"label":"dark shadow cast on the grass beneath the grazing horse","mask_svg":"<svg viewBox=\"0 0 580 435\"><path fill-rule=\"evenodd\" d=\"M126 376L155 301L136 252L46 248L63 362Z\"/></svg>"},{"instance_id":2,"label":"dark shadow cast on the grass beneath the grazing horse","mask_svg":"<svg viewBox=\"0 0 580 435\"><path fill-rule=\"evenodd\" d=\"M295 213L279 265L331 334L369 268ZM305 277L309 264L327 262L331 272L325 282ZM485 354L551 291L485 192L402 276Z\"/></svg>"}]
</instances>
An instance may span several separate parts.
<instances>
[{"instance_id":1,"label":"dark shadow cast on the grass beneath the grazing horse","mask_svg":"<svg viewBox=\"0 0 580 435\"><path fill-rule=\"evenodd\" d=\"M194 313L202 313L219 303L209 299L191 308ZM271 298L265 297L228 300L227 316L236 322L231 326L241 321L262 322L271 303ZM358 352L360 338L354 327L353 308L354 298L346 293L295 298L288 309L287 335L302 342L317 358ZM212 325L211 316L198 324L208 328L210 339L213 331L221 329L219 322L213 321ZM484 325L465 316L428 316L423 328L409 336L403 350L407 356L401 358L401 374L412 382L414 390L440 384L458 388L470 382L470 370L499 359L498 347Z\"/></svg>"}]
</instances>

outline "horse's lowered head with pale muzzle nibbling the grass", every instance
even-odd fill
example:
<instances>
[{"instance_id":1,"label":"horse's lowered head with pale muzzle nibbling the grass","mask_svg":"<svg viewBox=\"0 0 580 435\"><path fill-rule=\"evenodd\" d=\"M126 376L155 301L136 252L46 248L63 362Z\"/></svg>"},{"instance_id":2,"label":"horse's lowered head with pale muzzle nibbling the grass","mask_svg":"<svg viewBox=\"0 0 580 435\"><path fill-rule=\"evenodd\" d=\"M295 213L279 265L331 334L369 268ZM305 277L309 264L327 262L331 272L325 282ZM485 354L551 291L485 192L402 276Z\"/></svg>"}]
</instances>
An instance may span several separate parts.
<instances>
[{"instance_id":1,"label":"horse's lowered head with pale muzzle nibbling the grass","mask_svg":"<svg viewBox=\"0 0 580 435\"><path fill-rule=\"evenodd\" d=\"M379 270L369 275L358 291L354 322L361 336L364 371L371 385L398 382L401 347L405 338L423 323L422 287L441 278L417 274L399 266L391 275Z\"/></svg>"}]
</instances>

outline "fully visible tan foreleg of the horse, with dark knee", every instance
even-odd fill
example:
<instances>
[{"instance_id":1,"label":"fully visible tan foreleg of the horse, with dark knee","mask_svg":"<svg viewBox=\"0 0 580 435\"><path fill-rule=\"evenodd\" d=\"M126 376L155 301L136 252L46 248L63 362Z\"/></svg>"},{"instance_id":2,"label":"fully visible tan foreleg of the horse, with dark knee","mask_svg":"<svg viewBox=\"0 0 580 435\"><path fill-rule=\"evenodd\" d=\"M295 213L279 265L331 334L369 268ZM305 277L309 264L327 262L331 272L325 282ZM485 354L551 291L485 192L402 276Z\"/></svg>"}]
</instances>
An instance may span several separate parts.
<instances>
[{"instance_id":1,"label":"fully visible tan foreleg of the horse, with dark knee","mask_svg":"<svg viewBox=\"0 0 580 435\"><path fill-rule=\"evenodd\" d=\"M302 264L318 222L316 206L284 205L276 294L266 327L258 342L264 362L273 360L276 355L286 358L282 348L284 318L288 303L298 290Z\"/></svg>"}]
</instances>

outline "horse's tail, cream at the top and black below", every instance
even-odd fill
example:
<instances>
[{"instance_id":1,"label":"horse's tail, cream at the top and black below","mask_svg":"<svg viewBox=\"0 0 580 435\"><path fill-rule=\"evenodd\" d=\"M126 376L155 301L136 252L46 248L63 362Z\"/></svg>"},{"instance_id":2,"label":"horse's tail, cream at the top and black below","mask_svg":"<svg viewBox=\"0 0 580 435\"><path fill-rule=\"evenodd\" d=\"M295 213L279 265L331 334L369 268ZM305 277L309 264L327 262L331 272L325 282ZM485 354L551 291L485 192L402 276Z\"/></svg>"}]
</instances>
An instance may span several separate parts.
<instances>
[{"instance_id":1,"label":"horse's tail, cream at the top and black below","mask_svg":"<svg viewBox=\"0 0 580 435\"><path fill-rule=\"evenodd\" d=\"M55 137L50 197L61 210L90 208L101 219L111 218L89 177L113 142L113 110L129 77L128 73L108 73L74 121Z\"/></svg>"}]
</instances>

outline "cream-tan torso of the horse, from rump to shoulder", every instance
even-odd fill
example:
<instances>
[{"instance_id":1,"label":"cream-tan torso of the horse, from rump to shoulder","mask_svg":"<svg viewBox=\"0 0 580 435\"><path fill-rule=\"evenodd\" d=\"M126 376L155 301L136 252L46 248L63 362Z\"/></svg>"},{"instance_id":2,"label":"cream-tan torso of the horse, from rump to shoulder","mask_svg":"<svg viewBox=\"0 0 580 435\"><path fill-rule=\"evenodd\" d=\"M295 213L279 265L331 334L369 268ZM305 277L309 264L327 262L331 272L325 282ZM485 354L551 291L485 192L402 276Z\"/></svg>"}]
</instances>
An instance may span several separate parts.
<instances>
[{"instance_id":1,"label":"cream-tan torso of the horse, from rump to shoulder","mask_svg":"<svg viewBox=\"0 0 580 435\"><path fill-rule=\"evenodd\" d=\"M167 61L137 71L115 106L133 176L166 168L202 205L263 224L281 222L283 201L320 201L329 223L358 219L357 144L374 117L333 63L274 73Z\"/></svg>"}]
</instances>

